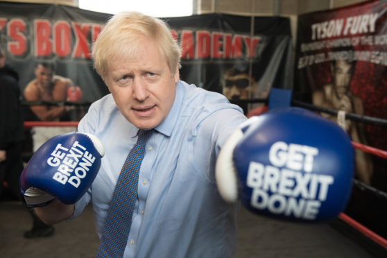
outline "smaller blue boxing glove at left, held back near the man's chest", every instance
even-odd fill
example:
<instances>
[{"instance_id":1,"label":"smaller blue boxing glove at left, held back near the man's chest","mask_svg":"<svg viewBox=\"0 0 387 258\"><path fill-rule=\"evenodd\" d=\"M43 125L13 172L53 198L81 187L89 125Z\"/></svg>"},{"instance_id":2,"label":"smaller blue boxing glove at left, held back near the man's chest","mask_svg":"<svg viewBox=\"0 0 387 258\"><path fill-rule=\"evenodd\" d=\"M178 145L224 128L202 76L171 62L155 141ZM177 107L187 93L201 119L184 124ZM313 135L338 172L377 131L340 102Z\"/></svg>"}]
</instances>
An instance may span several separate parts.
<instances>
[{"instance_id":1,"label":"smaller blue boxing glove at left, held back near the man's chest","mask_svg":"<svg viewBox=\"0 0 387 258\"><path fill-rule=\"evenodd\" d=\"M31 157L20 177L28 207L41 207L57 198L76 203L92 184L104 148L94 135L69 132L46 141Z\"/></svg>"}]
</instances>

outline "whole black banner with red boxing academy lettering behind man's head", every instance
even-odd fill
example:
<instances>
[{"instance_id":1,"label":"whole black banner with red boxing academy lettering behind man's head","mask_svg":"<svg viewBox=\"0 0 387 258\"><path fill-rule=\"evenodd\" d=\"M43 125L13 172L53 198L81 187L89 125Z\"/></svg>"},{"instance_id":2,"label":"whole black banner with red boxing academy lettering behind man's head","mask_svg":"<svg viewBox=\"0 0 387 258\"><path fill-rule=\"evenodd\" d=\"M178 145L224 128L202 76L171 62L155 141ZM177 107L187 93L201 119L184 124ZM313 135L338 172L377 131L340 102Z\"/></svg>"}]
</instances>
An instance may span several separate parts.
<instances>
[{"instance_id":1,"label":"whole black banner with red boxing academy lettering behind man's head","mask_svg":"<svg viewBox=\"0 0 387 258\"><path fill-rule=\"evenodd\" d=\"M70 6L0 2L0 42L20 87L33 79L35 60L48 59L55 60L56 74L82 89L83 101L107 94L90 53L109 18ZM291 87L288 18L209 14L165 21L182 47L180 78L187 83L220 93L237 85L239 92L227 96L236 100L265 98L271 85Z\"/></svg>"}]
</instances>

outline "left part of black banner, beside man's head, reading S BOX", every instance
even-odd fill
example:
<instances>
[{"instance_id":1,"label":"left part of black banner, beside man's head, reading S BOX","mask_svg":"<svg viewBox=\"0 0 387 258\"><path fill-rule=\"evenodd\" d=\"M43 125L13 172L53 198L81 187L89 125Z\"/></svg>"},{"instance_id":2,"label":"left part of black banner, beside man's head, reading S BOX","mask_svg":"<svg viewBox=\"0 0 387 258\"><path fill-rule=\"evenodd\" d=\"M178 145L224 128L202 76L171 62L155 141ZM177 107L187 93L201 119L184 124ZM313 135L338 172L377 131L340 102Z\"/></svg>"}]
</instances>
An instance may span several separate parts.
<instances>
[{"instance_id":1,"label":"left part of black banner, beside man's head, reading S BOX","mask_svg":"<svg viewBox=\"0 0 387 258\"><path fill-rule=\"evenodd\" d=\"M35 60L53 60L55 74L71 78L83 90L83 101L107 94L90 61L90 42L107 19L69 6L0 3L0 42L8 51L8 65L19 73L22 90L35 77Z\"/></svg>"}]
</instances>

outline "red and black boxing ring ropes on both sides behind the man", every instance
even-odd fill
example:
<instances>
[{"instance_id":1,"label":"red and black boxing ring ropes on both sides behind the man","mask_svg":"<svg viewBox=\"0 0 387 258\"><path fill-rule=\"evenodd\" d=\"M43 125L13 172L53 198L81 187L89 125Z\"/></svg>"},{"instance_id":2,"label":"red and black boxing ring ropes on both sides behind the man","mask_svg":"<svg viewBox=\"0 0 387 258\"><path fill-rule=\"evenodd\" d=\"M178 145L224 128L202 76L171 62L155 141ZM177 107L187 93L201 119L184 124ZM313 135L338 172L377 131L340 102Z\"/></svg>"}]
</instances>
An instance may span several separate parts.
<instances>
[{"instance_id":1,"label":"red and black boxing ring ropes on both sides behind the man","mask_svg":"<svg viewBox=\"0 0 387 258\"><path fill-rule=\"evenodd\" d=\"M240 104L240 103L263 103L264 105L267 105L268 99L267 98L259 98L259 99L250 99L250 100L238 100L238 101L232 101L232 103ZM24 102L23 105L79 105L79 106L86 106L90 103L85 102L51 102L51 101L34 101L34 102ZM316 105L311 105L309 103L303 103L301 101L291 101L291 105L295 107L302 107L307 110L312 110L315 112L325 112L327 114L331 114L333 116L338 115L338 110L329 110L324 107L318 107ZM264 112L265 109L262 109L262 112ZM375 117L368 117L365 115L359 115L359 114L352 114L347 113L345 114L345 119L350 119L352 121L372 124L375 126L381 126L382 128L387 127L387 120L386 119L380 119ZM76 128L78 126L79 121L24 121L24 127L25 128L34 128L34 127L47 127L47 126L53 126L53 127L74 127ZM381 150L372 146L366 146L364 144L359 144L357 142L352 141L352 145L354 148L362 150L365 153L369 153L370 155L375 155L377 157L380 157L384 160L387 160L387 151ZM31 154L32 155L32 154ZM387 173L387 171L386 171ZM380 189L377 189L375 187L372 187L371 185L365 184L361 182L360 180L357 180L356 178L352 178L353 187L356 187L358 189L361 189L361 191L368 191L372 193L373 195L377 196L378 198L383 198L384 201L387 201L387 193L384 191L381 191ZM375 245L378 248L381 248L382 250L387 250L387 239L384 236L381 236L380 234L377 234L374 230L370 230L367 226L363 225L359 221L356 221L354 218L349 216L348 214L345 214L344 212L341 212L338 216L338 220L345 223L345 225L349 226L354 232L357 232L361 234L361 236L365 237L366 239L370 239L372 243L375 243Z\"/></svg>"}]
</instances>

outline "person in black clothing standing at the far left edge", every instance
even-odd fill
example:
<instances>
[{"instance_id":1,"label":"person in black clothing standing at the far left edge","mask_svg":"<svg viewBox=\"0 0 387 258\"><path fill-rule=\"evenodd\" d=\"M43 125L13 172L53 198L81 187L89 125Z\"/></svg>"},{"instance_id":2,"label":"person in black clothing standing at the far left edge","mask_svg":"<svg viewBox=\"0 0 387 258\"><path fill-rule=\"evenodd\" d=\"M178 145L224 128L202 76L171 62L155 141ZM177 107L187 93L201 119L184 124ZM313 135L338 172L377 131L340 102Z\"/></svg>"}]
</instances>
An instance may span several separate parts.
<instances>
[{"instance_id":1,"label":"person in black clothing standing at the far left edge","mask_svg":"<svg viewBox=\"0 0 387 258\"><path fill-rule=\"evenodd\" d=\"M23 171L24 127L17 72L6 65L0 46L0 196L6 182L13 199L21 200L19 178Z\"/></svg>"}]
</instances>

